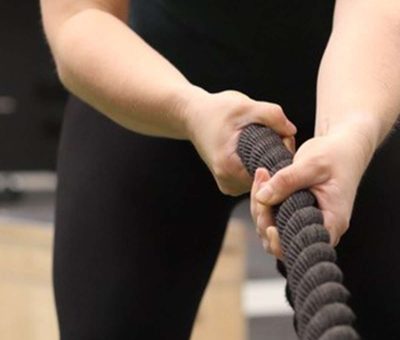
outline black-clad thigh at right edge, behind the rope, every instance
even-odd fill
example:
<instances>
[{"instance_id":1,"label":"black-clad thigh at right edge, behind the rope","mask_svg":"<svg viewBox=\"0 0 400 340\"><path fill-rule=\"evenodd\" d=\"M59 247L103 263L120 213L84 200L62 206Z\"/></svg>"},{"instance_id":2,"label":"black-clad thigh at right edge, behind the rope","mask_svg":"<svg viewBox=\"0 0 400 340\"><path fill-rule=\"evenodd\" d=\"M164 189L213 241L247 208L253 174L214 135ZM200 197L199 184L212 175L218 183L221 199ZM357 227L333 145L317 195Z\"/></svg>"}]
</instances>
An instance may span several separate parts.
<instances>
[{"instance_id":1,"label":"black-clad thigh at right edge, behind the rope","mask_svg":"<svg viewBox=\"0 0 400 340\"><path fill-rule=\"evenodd\" d=\"M400 339L400 133L376 152L355 202L350 229L338 246L365 340Z\"/></svg>"}]
</instances>

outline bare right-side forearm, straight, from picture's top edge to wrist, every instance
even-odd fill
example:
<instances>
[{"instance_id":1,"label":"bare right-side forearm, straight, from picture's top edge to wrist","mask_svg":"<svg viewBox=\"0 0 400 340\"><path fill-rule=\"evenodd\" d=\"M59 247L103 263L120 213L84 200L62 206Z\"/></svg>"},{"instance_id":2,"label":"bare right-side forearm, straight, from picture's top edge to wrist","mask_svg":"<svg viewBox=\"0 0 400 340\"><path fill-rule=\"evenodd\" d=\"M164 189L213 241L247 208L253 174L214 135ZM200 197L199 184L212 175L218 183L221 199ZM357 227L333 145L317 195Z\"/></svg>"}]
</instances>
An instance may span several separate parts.
<instances>
[{"instance_id":1,"label":"bare right-side forearm, straight, from picture's top edge to wrist","mask_svg":"<svg viewBox=\"0 0 400 340\"><path fill-rule=\"evenodd\" d=\"M368 158L389 134L400 112L399 22L395 1L337 1L318 77L317 136L352 129Z\"/></svg>"}]
</instances>

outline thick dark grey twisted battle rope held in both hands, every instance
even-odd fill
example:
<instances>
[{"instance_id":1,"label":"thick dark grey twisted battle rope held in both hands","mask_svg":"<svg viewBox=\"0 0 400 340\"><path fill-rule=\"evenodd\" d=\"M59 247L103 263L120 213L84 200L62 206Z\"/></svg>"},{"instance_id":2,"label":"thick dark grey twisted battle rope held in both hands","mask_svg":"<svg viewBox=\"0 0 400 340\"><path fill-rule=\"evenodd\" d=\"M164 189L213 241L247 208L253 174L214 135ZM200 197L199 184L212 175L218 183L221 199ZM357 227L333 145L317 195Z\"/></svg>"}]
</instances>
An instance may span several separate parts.
<instances>
[{"instance_id":1,"label":"thick dark grey twisted battle rope held in both hands","mask_svg":"<svg viewBox=\"0 0 400 340\"><path fill-rule=\"evenodd\" d=\"M293 159L281 138L258 124L241 132L237 152L252 176L259 167L273 176ZM274 216L284 253L278 270L287 278L286 297L299 339L359 340L352 327L355 315L346 305L350 294L314 195L295 192L274 207Z\"/></svg>"}]
</instances>

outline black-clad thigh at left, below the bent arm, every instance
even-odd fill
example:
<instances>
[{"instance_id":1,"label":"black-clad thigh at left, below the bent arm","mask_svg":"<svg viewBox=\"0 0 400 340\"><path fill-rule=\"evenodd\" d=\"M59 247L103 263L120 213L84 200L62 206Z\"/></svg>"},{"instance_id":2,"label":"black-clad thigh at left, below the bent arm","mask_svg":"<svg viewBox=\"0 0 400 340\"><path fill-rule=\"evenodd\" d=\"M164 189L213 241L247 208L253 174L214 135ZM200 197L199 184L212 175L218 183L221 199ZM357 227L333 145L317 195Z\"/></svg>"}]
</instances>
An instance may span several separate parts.
<instances>
[{"instance_id":1,"label":"black-clad thigh at left, below the bent arm","mask_svg":"<svg viewBox=\"0 0 400 340\"><path fill-rule=\"evenodd\" d=\"M235 200L188 142L134 134L76 99L58 174L61 339L188 339Z\"/></svg>"}]
</instances>

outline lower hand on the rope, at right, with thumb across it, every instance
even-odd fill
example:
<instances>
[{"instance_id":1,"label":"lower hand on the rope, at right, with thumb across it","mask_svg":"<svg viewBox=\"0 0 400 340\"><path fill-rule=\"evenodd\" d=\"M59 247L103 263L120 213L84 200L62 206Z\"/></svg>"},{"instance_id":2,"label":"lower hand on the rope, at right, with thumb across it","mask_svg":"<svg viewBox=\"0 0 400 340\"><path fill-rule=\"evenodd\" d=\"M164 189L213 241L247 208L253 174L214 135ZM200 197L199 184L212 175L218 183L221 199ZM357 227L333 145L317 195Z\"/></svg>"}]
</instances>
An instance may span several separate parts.
<instances>
[{"instance_id":1,"label":"lower hand on the rope, at right, with thumb across it","mask_svg":"<svg viewBox=\"0 0 400 340\"><path fill-rule=\"evenodd\" d=\"M283 258L271 207L303 188L317 198L330 243L339 243L349 227L357 188L372 157L364 137L350 130L308 140L296 152L293 164L272 178L266 169L257 169L251 213L267 252Z\"/></svg>"}]
</instances>

